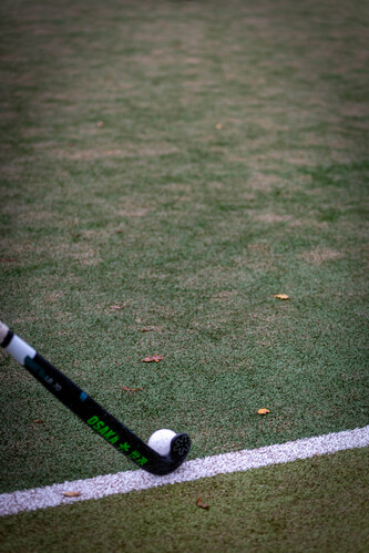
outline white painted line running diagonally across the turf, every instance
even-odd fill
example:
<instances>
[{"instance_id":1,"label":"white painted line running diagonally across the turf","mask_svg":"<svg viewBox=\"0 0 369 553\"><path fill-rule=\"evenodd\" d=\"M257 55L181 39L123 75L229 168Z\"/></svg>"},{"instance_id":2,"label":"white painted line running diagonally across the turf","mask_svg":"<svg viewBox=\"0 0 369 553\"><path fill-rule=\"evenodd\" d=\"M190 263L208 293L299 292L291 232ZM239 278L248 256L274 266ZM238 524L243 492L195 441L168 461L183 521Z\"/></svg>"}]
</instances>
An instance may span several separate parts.
<instances>
[{"instance_id":1,"label":"white painted line running diagonally across the turf","mask_svg":"<svg viewBox=\"0 0 369 553\"><path fill-rule=\"evenodd\" d=\"M347 449L369 446L369 426L315 438L254 450L243 450L221 455L205 457L187 461L166 477L154 477L143 470L119 472L88 480L74 480L45 488L3 493L0 495L0 514L17 514L20 511L34 511L75 501L105 498L134 490L145 490L165 484L188 482L201 478L230 472L243 472L268 464L287 463L297 459L335 453ZM65 492L79 492L79 498L65 498Z\"/></svg>"}]
</instances>

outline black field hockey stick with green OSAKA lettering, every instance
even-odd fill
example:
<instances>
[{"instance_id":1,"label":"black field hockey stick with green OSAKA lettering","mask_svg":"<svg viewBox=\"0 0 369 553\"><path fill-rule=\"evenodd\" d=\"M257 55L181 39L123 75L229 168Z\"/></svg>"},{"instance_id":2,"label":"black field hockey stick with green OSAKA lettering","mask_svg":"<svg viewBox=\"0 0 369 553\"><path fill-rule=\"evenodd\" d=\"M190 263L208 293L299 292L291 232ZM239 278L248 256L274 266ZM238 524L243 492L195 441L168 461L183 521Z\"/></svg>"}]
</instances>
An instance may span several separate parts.
<instances>
[{"instance_id":1,"label":"black field hockey stick with green OSAKA lettering","mask_svg":"<svg viewBox=\"0 0 369 553\"><path fill-rule=\"evenodd\" d=\"M187 434L172 432L170 442L165 444L168 452L160 454L1 321L0 346L89 428L137 467L163 475L176 470L186 459L191 448Z\"/></svg>"}]
</instances>

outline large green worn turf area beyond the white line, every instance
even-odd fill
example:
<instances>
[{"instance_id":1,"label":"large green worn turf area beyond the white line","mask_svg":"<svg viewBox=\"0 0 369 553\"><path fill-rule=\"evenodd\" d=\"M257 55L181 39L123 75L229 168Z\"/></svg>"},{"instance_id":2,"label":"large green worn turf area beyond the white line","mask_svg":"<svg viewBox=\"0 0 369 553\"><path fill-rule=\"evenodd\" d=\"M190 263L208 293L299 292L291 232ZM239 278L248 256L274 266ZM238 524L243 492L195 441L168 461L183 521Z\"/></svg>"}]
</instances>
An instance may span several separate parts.
<instances>
[{"instance_id":1,"label":"large green worn turf area beyond the white line","mask_svg":"<svg viewBox=\"0 0 369 553\"><path fill-rule=\"evenodd\" d=\"M367 21L1 2L1 318L142 438L368 423ZM0 355L1 491L130 468Z\"/></svg>"}]
</instances>

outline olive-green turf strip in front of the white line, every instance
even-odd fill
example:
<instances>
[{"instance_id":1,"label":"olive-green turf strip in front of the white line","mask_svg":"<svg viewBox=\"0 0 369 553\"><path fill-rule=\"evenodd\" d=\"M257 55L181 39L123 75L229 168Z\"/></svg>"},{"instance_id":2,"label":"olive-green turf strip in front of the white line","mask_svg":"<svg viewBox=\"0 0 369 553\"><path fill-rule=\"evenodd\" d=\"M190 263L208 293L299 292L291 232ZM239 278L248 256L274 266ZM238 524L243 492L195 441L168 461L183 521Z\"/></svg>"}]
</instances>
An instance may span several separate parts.
<instances>
[{"instance_id":1,"label":"olive-green turf strip in front of the white line","mask_svg":"<svg viewBox=\"0 0 369 553\"><path fill-rule=\"evenodd\" d=\"M0 550L365 552L368 461L365 448L7 516Z\"/></svg>"}]
</instances>

